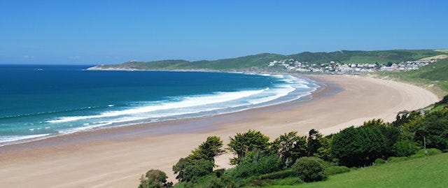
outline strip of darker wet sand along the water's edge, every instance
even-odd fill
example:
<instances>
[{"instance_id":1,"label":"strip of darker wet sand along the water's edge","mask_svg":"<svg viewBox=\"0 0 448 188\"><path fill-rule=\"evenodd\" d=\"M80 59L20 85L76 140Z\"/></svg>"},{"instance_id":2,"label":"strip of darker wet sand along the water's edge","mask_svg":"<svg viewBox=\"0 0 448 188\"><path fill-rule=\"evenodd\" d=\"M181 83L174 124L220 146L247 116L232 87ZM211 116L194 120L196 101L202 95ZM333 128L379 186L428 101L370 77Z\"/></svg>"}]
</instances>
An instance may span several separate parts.
<instances>
[{"instance_id":1,"label":"strip of darker wet sand along the water's edge","mask_svg":"<svg viewBox=\"0 0 448 188\"><path fill-rule=\"evenodd\" d=\"M227 73L227 72L225 72ZM297 75L293 75L297 76ZM313 80L311 78L308 78L307 76L300 75L302 78L306 78L309 80L314 81L316 85L319 87L316 88L314 92L311 92L311 94L307 96L303 96L300 99L295 99L293 101L286 101L283 103L274 103L267 106L258 106L255 108L248 108L244 110L238 110L230 113L220 113L220 114L214 114L214 115L204 115L200 117L187 117L182 118L179 120L167 120L162 122L143 122L143 123L137 123L137 124L123 124L120 126L106 126L99 129L92 129L92 130L86 130L86 131L78 131L73 133L66 133L66 134L59 134L54 136L49 136L45 138L38 138L36 140L25 140L24 142L18 142L18 143L12 143L8 145L0 145L0 155L4 152L13 151L13 150L22 150L25 148L35 148L35 147L45 147L45 146L54 146L54 145L62 145L62 144L73 144L73 143L79 143L79 142L85 142L86 140L92 141L92 140L101 140L109 137L113 137L113 135L128 135L128 134L138 134L141 132L148 132L146 129L158 129L158 131L155 131L154 133L147 133L146 136L164 136L166 134L174 134L174 133L189 133L194 131L211 131L214 129L217 129L218 127L211 127L216 126L216 124L213 125L207 125L204 127L183 127L182 129L173 129L173 131L177 132L169 132L167 131L161 131L160 129L163 129L165 126L180 126L182 124L190 124L190 122L197 122L197 121L208 121L209 118L218 118L218 119L232 119L235 117L241 117L244 115L241 115L240 113L245 113L245 115L253 115L254 113L260 113L262 111L279 111L279 109L284 110L286 106L288 108L293 108L296 106L302 106L307 102L311 102L314 99L320 99L322 97L328 97L336 94L337 92L342 91L343 89L341 87L338 87L337 85L333 85L330 82L325 81L318 81ZM328 85L331 85L330 87ZM193 129L196 128L196 129ZM188 129L188 130L187 130ZM105 135L109 133L110 135ZM83 139L78 139L77 137L83 137ZM74 138L74 139L72 139ZM1 157L1 156L0 156ZM1 158L0 158L1 159Z\"/></svg>"}]
</instances>

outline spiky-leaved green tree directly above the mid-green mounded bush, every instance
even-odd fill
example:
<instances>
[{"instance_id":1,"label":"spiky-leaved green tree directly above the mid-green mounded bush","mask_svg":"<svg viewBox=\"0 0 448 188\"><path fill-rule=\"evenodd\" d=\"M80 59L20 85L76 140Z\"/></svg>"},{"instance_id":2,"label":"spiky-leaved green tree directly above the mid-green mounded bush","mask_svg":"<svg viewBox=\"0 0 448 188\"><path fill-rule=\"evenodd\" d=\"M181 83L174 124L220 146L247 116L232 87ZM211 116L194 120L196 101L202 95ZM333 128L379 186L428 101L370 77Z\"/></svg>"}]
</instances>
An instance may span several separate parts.
<instances>
[{"instance_id":1,"label":"spiky-leaved green tree directly above the mid-green mounded bush","mask_svg":"<svg viewBox=\"0 0 448 188\"><path fill-rule=\"evenodd\" d=\"M230 161L231 164L239 164L239 159L246 156L248 152L255 149L267 150L269 145L269 137L260 133L260 131L248 130L246 133L237 133L236 136L230 137L228 150L237 154L237 158Z\"/></svg>"}]
</instances>

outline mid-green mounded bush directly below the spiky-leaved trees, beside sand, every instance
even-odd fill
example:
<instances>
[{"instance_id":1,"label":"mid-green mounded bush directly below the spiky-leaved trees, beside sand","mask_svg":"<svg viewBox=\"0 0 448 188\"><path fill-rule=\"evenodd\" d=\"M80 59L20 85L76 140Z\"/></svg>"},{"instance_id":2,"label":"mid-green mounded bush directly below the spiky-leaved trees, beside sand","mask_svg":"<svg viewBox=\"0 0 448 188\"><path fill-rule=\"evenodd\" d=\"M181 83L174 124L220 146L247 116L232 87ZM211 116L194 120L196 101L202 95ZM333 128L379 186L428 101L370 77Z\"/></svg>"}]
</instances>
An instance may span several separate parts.
<instances>
[{"instance_id":1,"label":"mid-green mounded bush directly below the spiky-leaved trees, beside sand","mask_svg":"<svg viewBox=\"0 0 448 188\"><path fill-rule=\"evenodd\" d=\"M265 154L260 150L248 152L246 157L240 160L239 165L233 171L237 178L247 178L279 171L282 167L281 161L274 154Z\"/></svg>"}]
</instances>

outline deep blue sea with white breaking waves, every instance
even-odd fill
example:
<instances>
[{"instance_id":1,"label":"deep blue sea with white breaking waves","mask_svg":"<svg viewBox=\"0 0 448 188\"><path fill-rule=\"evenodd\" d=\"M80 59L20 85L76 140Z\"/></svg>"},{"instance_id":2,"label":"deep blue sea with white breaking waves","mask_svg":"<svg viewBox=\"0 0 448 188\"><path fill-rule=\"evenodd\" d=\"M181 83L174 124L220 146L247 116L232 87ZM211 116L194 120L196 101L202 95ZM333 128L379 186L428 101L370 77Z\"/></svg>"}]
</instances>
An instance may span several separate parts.
<instances>
[{"instance_id":1,"label":"deep blue sea with white breaking waves","mask_svg":"<svg viewBox=\"0 0 448 188\"><path fill-rule=\"evenodd\" d=\"M0 146L238 112L309 97L319 87L293 75L88 67L0 65Z\"/></svg>"}]
</instances>

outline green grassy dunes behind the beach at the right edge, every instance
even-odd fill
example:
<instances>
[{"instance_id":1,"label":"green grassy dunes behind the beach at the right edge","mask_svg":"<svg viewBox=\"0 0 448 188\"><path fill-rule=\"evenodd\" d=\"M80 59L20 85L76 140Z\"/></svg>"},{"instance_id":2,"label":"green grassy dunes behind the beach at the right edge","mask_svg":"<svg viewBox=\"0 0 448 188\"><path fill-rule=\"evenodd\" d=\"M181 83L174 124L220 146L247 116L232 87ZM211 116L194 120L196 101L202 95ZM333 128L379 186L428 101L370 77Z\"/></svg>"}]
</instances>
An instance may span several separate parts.
<instances>
[{"instance_id":1,"label":"green grassy dunes behind the beach at the right edge","mask_svg":"<svg viewBox=\"0 0 448 188\"><path fill-rule=\"evenodd\" d=\"M423 66L415 71L381 72L377 75L425 87L440 97L448 94L448 59Z\"/></svg>"}]
</instances>

